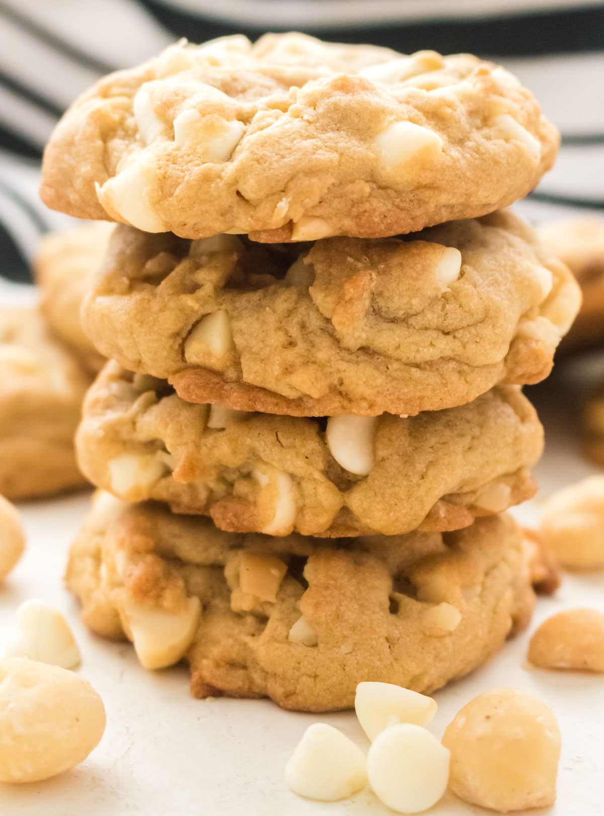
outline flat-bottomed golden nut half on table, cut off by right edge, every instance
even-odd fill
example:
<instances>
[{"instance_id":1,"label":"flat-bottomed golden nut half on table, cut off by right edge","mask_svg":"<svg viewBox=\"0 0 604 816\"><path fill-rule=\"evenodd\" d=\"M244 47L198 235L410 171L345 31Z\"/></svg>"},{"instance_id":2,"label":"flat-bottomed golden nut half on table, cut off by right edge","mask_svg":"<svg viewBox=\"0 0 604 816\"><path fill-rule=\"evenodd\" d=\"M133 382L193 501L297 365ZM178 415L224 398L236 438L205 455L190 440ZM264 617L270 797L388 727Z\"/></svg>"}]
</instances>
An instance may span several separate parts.
<instances>
[{"instance_id":1,"label":"flat-bottomed golden nut half on table, cut off by right edge","mask_svg":"<svg viewBox=\"0 0 604 816\"><path fill-rule=\"evenodd\" d=\"M604 614L572 609L552 615L531 637L528 659L540 668L604 672Z\"/></svg>"}]
</instances>

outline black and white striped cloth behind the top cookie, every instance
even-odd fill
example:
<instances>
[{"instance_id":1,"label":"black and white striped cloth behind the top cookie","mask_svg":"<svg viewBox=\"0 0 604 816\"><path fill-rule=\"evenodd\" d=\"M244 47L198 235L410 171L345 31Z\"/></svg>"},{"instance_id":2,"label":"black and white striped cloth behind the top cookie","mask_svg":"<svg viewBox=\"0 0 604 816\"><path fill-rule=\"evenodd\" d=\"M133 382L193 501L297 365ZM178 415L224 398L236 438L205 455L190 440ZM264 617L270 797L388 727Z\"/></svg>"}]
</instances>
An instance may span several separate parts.
<instances>
[{"instance_id":1,"label":"black and white striped cloth behind the top cookie","mask_svg":"<svg viewBox=\"0 0 604 816\"><path fill-rule=\"evenodd\" d=\"M534 221L604 211L602 0L0 0L0 274L28 281L39 235L71 221L37 185L43 145L77 94L177 38L289 29L504 64L562 131L556 168L518 210Z\"/></svg>"}]
</instances>

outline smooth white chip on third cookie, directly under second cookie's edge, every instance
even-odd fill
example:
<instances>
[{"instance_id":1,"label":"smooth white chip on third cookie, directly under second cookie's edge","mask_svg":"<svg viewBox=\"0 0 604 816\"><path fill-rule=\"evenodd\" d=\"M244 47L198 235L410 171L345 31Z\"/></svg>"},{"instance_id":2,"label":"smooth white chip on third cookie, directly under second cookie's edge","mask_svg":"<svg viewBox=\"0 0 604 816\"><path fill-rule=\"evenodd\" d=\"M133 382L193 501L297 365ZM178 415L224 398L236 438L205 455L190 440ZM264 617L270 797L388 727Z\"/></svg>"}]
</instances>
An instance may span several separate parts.
<instances>
[{"instance_id":1,"label":"smooth white chip on third cookie, directly under second cookie's edge","mask_svg":"<svg viewBox=\"0 0 604 816\"><path fill-rule=\"evenodd\" d=\"M333 459L350 473L367 476L373 468L373 437L377 417L330 416L325 441Z\"/></svg>"}]
</instances>

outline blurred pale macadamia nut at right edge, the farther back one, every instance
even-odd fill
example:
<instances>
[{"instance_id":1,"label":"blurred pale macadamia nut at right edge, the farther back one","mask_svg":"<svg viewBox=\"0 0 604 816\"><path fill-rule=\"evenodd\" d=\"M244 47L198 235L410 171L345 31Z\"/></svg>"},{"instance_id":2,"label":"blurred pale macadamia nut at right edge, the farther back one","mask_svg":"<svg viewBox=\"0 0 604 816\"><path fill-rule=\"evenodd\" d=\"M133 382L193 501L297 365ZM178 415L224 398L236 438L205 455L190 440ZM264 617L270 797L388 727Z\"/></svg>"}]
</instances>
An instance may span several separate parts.
<instances>
[{"instance_id":1,"label":"blurred pale macadamia nut at right edge, the farther back one","mask_svg":"<svg viewBox=\"0 0 604 816\"><path fill-rule=\"evenodd\" d=\"M544 504L541 532L562 566L604 566L604 476L558 490Z\"/></svg>"}]
</instances>

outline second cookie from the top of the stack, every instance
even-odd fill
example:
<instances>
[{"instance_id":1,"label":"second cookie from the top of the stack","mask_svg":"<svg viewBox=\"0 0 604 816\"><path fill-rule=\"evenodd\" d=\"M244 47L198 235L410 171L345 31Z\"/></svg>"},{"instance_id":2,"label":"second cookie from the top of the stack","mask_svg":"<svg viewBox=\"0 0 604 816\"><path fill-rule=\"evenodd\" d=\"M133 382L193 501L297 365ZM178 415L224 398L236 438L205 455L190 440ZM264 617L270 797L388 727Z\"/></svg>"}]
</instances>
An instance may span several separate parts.
<instances>
[{"instance_id":1,"label":"second cookie from the top of the stack","mask_svg":"<svg viewBox=\"0 0 604 816\"><path fill-rule=\"evenodd\" d=\"M302 248L120 226L82 319L107 357L187 401L417 414L544 378L579 297L505 211Z\"/></svg>"}]
</instances>

